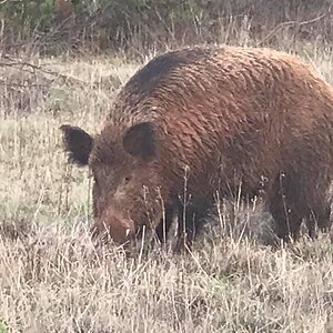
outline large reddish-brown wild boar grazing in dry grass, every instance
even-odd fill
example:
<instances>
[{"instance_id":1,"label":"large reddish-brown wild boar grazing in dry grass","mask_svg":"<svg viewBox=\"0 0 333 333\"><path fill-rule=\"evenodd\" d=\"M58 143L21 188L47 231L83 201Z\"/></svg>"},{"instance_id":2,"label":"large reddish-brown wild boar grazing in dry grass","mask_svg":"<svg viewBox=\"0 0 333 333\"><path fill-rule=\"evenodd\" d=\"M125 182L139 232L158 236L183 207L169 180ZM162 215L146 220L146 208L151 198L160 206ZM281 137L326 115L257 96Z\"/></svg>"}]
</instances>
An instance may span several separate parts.
<instances>
[{"instance_id":1,"label":"large reddish-brown wild boar grazing in dry grass","mask_svg":"<svg viewBox=\"0 0 333 333\"><path fill-rule=\"evenodd\" d=\"M175 214L190 245L214 195L264 189L282 239L303 219L330 228L333 89L299 57L194 47L152 59L119 92L102 131L62 125L70 160L94 176L94 234L124 243ZM263 182L264 180L264 182ZM264 183L264 185L263 185Z\"/></svg>"}]
</instances>

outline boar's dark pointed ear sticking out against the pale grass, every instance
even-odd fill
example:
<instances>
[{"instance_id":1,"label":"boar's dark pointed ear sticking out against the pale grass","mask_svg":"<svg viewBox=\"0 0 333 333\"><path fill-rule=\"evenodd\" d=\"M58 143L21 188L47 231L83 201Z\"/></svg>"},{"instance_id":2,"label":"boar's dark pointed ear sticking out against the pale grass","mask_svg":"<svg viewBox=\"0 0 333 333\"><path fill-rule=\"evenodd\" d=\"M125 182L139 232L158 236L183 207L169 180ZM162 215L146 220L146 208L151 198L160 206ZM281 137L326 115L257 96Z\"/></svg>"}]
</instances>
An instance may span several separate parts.
<instances>
[{"instance_id":1,"label":"boar's dark pointed ear sticking out against the pale grass","mask_svg":"<svg viewBox=\"0 0 333 333\"><path fill-rule=\"evenodd\" d=\"M87 165L92 148L92 138L82 129L64 124L60 127L63 144L69 152L69 160L79 165Z\"/></svg>"}]
</instances>

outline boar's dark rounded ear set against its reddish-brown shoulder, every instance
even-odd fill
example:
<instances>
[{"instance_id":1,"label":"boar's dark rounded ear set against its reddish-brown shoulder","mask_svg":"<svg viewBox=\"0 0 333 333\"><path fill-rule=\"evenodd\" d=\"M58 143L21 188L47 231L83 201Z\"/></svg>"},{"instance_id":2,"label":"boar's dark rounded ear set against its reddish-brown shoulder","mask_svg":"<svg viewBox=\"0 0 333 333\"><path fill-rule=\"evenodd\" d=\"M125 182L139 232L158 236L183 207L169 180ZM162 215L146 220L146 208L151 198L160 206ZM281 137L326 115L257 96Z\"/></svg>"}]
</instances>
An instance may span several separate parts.
<instances>
[{"instance_id":1,"label":"boar's dark rounded ear set against its reddish-brown shoulder","mask_svg":"<svg viewBox=\"0 0 333 333\"><path fill-rule=\"evenodd\" d=\"M151 122L132 125L123 137L124 150L137 158L150 159L155 155L154 129Z\"/></svg>"}]
</instances>

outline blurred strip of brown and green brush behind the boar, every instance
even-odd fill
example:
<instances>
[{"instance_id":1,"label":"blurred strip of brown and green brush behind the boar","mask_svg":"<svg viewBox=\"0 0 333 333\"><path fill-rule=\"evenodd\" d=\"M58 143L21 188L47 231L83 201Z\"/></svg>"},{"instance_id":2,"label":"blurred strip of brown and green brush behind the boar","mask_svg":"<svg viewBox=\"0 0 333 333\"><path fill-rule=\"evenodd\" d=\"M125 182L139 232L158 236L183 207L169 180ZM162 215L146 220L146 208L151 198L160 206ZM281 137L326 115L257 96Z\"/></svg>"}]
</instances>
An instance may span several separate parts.
<instances>
[{"instance_id":1,"label":"blurred strip of brown and green brush behind the boar","mask_svg":"<svg viewBox=\"0 0 333 333\"><path fill-rule=\"evenodd\" d=\"M202 42L330 44L331 0L0 0L0 48L59 54ZM281 38L282 37L282 38ZM242 41L241 41L242 42Z\"/></svg>"}]
</instances>

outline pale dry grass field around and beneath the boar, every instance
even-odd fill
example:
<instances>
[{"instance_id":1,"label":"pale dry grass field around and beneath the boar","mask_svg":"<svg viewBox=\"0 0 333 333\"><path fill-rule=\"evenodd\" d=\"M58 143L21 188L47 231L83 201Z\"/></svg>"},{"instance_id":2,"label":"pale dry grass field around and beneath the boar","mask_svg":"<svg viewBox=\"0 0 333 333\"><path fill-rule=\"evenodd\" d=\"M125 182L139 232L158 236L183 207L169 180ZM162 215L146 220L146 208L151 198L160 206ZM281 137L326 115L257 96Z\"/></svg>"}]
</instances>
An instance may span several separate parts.
<instances>
[{"instance_id":1,"label":"pale dry grass field around and beneath the boar","mask_svg":"<svg viewBox=\"0 0 333 333\"><path fill-rule=\"evenodd\" d=\"M333 82L332 54L306 48ZM0 333L333 332L331 236L265 245L259 209L233 203L230 232L222 206L188 255L94 248L88 171L65 164L59 125L101 129L138 64L24 62L0 62Z\"/></svg>"}]
</instances>

